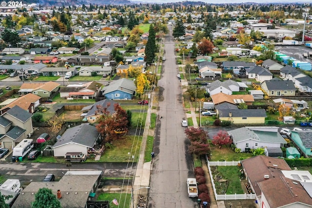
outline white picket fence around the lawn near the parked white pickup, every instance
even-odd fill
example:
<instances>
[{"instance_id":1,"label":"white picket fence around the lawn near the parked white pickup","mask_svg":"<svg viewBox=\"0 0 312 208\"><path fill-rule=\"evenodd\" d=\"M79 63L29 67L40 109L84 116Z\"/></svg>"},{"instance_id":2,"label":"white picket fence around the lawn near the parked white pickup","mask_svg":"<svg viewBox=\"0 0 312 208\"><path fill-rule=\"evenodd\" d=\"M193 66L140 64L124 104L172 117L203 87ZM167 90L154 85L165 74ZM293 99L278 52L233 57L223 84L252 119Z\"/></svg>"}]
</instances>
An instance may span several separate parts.
<instances>
[{"instance_id":1,"label":"white picket fence around the lawn near the parked white pickup","mask_svg":"<svg viewBox=\"0 0 312 208\"><path fill-rule=\"evenodd\" d=\"M255 199L255 194L217 194L215 189L215 182L213 178L213 174L211 172L210 166L237 166L240 161L217 161L217 162L210 162L208 160L208 157L206 157L207 164L208 164L208 170L210 174L211 183L213 184L213 189L215 192L215 200L235 200L235 199Z\"/></svg>"}]
</instances>

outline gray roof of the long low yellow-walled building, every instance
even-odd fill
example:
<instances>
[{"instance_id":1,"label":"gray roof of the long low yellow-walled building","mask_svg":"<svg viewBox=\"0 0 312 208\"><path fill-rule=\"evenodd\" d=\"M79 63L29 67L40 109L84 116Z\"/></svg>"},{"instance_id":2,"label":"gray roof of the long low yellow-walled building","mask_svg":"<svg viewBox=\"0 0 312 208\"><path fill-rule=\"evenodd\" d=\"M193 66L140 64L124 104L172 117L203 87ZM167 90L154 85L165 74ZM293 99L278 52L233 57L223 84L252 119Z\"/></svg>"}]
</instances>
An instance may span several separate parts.
<instances>
[{"instance_id":1,"label":"gray roof of the long low yellow-walled building","mask_svg":"<svg viewBox=\"0 0 312 208\"><path fill-rule=\"evenodd\" d=\"M264 109L222 109L219 110L219 117L229 117L229 113L232 113L232 117L267 117Z\"/></svg>"}]
</instances>

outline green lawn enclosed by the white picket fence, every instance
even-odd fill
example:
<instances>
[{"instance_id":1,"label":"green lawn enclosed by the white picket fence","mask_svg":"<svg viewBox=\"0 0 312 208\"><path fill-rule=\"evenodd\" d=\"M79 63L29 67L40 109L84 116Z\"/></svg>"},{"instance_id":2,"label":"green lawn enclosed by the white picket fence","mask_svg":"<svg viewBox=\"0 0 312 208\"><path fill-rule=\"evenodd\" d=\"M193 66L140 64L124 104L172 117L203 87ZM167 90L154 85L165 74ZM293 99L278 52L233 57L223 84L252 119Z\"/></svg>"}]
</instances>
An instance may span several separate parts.
<instances>
[{"instance_id":1,"label":"green lawn enclosed by the white picket fence","mask_svg":"<svg viewBox=\"0 0 312 208\"><path fill-rule=\"evenodd\" d=\"M243 194L244 191L240 185L240 177L238 166L211 166L214 178L226 179L227 182L215 181L215 188L218 194Z\"/></svg>"}]
</instances>

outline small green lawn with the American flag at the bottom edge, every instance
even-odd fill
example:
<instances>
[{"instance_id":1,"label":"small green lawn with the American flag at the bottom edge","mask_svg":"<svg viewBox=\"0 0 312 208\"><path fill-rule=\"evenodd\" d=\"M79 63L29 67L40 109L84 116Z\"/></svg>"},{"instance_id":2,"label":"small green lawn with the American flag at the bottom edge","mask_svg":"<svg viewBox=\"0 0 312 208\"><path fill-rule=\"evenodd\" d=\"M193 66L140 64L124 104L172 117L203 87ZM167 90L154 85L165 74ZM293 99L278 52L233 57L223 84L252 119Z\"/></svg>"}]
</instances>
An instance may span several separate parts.
<instances>
[{"instance_id":1,"label":"small green lawn with the American flag at the bottom edge","mask_svg":"<svg viewBox=\"0 0 312 208\"><path fill-rule=\"evenodd\" d=\"M121 194L121 197L120 197ZM109 201L112 202L114 199L117 199L120 207L130 207L131 204L131 192L130 193L101 193L98 196L98 201ZM111 208L117 208L118 206L110 203Z\"/></svg>"}]
</instances>

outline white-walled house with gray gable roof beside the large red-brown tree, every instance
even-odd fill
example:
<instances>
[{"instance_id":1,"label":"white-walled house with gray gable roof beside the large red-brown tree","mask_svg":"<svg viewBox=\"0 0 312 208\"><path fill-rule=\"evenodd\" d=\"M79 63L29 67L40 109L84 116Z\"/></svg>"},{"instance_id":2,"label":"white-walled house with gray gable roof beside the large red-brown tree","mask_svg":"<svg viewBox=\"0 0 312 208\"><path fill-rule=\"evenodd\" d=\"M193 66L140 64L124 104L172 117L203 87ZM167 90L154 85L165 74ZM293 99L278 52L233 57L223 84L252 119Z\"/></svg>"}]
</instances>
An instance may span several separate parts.
<instances>
[{"instance_id":1,"label":"white-walled house with gray gable roof beside the large red-brown tree","mask_svg":"<svg viewBox=\"0 0 312 208\"><path fill-rule=\"evenodd\" d=\"M94 147L100 138L97 128L88 124L69 128L52 146L54 156L64 157L67 152L88 154L88 151Z\"/></svg>"}]
</instances>

